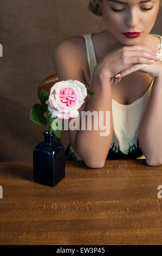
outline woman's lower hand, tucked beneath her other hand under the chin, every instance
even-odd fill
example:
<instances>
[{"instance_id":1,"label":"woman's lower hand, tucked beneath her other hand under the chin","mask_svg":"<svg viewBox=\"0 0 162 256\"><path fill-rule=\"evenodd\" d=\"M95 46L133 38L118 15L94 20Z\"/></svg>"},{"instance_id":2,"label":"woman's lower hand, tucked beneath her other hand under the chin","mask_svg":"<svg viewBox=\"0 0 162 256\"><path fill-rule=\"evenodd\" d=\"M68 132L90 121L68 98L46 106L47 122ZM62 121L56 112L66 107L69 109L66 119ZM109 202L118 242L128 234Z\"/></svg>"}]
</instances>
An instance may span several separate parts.
<instances>
[{"instance_id":1,"label":"woman's lower hand, tucked beneath her other hand under the chin","mask_svg":"<svg viewBox=\"0 0 162 256\"><path fill-rule=\"evenodd\" d=\"M159 60L152 63L152 65L147 65L147 64L132 65L126 70L121 71L120 76L118 74L114 78L118 77L118 82L120 82L122 77L127 76L135 71L141 71L141 72L147 73L154 78L162 75L162 57L159 56Z\"/></svg>"}]
</instances>

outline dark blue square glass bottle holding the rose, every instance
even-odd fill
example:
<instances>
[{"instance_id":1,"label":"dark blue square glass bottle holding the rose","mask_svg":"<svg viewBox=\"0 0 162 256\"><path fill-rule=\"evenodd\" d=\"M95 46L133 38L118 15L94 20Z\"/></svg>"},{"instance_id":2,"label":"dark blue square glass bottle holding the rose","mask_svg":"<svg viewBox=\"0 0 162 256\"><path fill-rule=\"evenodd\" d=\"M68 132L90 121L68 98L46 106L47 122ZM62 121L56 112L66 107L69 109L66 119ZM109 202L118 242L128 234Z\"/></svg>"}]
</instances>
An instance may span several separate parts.
<instances>
[{"instance_id":1,"label":"dark blue square glass bottle holding the rose","mask_svg":"<svg viewBox=\"0 0 162 256\"><path fill-rule=\"evenodd\" d=\"M37 183L54 187L65 176L65 150L53 132L44 131L43 135L44 141L33 151L33 177Z\"/></svg>"}]
</instances>

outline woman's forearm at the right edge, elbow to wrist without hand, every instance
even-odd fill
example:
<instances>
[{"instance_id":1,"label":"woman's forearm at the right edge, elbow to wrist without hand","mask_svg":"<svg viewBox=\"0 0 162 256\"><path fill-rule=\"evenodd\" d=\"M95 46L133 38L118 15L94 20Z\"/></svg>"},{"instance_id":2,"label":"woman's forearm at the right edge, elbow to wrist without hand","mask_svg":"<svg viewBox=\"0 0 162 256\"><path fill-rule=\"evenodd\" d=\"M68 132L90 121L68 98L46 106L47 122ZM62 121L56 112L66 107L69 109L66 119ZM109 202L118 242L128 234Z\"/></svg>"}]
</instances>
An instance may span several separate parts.
<instances>
[{"instance_id":1,"label":"woman's forearm at the right edge, elbow to wrist without hand","mask_svg":"<svg viewBox=\"0 0 162 256\"><path fill-rule=\"evenodd\" d=\"M139 145L148 165L162 164L162 74L154 78L147 111L140 128Z\"/></svg>"}]
</instances>

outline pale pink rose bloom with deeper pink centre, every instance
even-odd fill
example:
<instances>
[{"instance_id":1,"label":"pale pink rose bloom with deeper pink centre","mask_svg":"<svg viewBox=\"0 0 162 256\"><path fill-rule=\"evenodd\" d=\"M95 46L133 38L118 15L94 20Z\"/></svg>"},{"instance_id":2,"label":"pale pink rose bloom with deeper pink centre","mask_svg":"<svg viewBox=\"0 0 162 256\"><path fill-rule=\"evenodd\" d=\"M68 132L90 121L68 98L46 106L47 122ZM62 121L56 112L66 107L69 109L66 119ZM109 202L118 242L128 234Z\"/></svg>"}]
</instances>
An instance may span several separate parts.
<instances>
[{"instance_id":1,"label":"pale pink rose bloom with deeper pink centre","mask_svg":"<svg viewBox=\"0 0 162 256\"><path fill-rule=\"evenodd\" d=\"M77 80L61 81L54 84L46 101L51 117L61 119L75 118L79 115L77 109L85 102L87 88Z\"/></svg>"}]
</instances>

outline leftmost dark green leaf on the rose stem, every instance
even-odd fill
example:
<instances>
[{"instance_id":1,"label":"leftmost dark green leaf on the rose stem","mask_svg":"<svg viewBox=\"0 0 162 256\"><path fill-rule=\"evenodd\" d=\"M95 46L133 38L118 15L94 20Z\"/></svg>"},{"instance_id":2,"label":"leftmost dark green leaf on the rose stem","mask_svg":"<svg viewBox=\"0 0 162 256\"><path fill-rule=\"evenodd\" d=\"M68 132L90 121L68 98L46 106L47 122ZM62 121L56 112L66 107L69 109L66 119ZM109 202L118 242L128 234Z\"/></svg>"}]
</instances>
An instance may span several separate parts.
<instances>
[{"instance_id":1,"label":"leftmost dark green leaf on the rose stem","mask_svg":"<svg viewBox=\"0 0 162 256\"><path fill-rule=\"evenodd\" d=\"M47 119L43 116L44 109L41 104L35 104L30 112L30 120L41 126L47 125Z\"/></svg>"}]
</instances>

